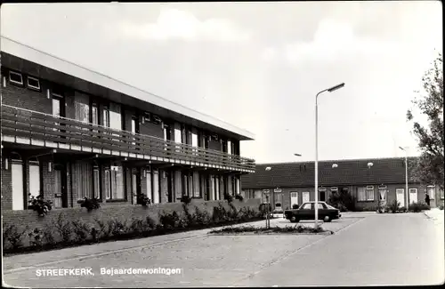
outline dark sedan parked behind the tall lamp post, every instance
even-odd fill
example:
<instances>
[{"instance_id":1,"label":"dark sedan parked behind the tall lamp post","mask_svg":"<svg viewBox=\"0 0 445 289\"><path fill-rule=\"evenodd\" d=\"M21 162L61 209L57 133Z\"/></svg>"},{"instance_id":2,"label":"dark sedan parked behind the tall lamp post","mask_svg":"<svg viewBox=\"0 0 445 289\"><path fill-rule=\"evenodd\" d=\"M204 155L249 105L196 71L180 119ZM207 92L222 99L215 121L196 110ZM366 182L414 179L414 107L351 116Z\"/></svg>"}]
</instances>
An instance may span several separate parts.
<instances>
[{"instance_id":1,"label":"dark sedan parked behind the tall lamp post","mask_svg":"<svg viewBox=\"0 0 445 289\"><path fill-rule=\"evenodd\" d=\"M286 210L284 212L285 218L291 222L298 222L300 220L314 220L315 219L315 202L303 203L298 209ZM319 220L332 221L339 219L342 216L340 210L325 202L319 202Z\"/></svg>"}]
</instances>

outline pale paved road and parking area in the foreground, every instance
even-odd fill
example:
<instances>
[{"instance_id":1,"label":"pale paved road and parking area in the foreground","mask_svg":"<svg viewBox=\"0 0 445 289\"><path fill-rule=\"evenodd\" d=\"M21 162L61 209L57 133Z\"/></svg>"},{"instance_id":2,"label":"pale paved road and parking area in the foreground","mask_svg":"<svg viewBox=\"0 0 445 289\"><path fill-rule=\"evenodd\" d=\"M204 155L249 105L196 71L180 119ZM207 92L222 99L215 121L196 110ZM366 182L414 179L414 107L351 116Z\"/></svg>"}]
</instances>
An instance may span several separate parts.
<instances>
[{"instance_id":1,"label":"pale paved road and parking area in the foreground","mask_svg":"<svg viewBox=\"0 0 445 289\"><path fill-rule=\"evenodd\" d=\"M258 224L258 223L257 223ZM279 219L279 226L290 225ZM313 225L312 222L304 222ZM443 225L443 223L442 223ZM31 287L205 287L285 285L433 285L444 280L443 226L423 213L344 214L323 224L334 235L208 236L170 240L39 264L43 254L4 258L33 267L4 273L6 285ZM174 238L174 235L170 238ZM133 241L125 241L130 244ZM136 241L137 242L137 241ZM144 241L139 241L143 243ZM125 243L122 243L125 246ZM103 245L102 245L103 246ZM112 246L112 244L109 244ZM79 250L78 248L65 249ZM101 248L103 250L103 248ZM66 255L65 255L66 256ZM64 257L66 258L66 257ZM101 268L178 268L179 275L102 275ZM37 276L37 269L91 268L94 276Z\"/></svg>"}]
</instances>

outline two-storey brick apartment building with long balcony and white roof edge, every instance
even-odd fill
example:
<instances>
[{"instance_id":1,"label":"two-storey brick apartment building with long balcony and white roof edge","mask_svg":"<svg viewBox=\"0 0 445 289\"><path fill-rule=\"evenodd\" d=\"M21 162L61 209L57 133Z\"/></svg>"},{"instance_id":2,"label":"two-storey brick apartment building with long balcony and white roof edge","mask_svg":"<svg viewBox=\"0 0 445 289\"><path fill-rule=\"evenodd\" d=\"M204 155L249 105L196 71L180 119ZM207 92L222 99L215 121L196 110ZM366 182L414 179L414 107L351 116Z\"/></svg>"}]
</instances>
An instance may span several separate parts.
<instances>
[{"instance_id":1,"label":"two-storey brick apartment building with long balcony and white roof edge","mask_svg":"<svg viewBox=\"0 0 445 289\"><path fill-rule=\"evenodd\" d=\"M255 161L251 132L2 36L2 208L223 199Z\"/></svg>"}]
</instances>

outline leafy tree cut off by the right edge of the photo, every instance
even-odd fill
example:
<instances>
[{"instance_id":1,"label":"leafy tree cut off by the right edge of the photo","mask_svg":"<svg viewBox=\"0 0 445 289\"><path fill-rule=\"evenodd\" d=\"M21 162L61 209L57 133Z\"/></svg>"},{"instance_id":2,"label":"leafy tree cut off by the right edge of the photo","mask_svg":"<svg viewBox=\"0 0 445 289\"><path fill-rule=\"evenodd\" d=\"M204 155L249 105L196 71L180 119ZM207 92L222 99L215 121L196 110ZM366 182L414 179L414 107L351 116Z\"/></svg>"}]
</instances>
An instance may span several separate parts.
<instances>
[{"instance_id":1,"label":"leafy tree cut off by the right edge of the photo","mask_svg":"<svg viewBox=\"0 0 445 289\"><path fill-rule=\"evenodd\" d=\"M426 116L427 126L415 120L412 109L407 119L413 124L412 133L418 141L421 155L411 162L410 171L415 181L435 184L443 189L443 69L442 55L433 62L433 68L422 78L424 92L412 101L420 114Z\"/></svg>"}]
</instances>

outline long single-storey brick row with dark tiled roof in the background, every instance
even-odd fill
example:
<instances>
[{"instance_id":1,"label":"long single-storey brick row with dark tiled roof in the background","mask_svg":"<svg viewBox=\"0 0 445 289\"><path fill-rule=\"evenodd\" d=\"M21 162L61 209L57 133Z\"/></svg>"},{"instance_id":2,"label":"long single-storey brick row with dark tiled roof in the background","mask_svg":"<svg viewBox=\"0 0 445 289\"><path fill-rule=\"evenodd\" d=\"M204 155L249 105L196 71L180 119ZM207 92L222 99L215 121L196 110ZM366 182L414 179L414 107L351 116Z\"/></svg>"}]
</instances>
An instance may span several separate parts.
<instances>
[{"instance_id":1,"label":"long single-storey brick row with dark tiled roof in the background","mask_svg":"<svg viewBox=\"0 0 445 289\"><path fill-rule=\"evenodd\" d=\"M409 158L408 161L412 161ZM266 168L268 168L266 170ZM242 195L262 198L276 210L302 205L315 198L314 162L256 165L255 173L242 176ZM409 172L409 203L425 203L428 193L432 207L443 205L443 189L413 181ZM352 194L355 206L374 209L378 202L398 200L406 204L405 158L352 159L319 162L319 200L328 201L333 193Z\"/></svg>"}]
</instances>

